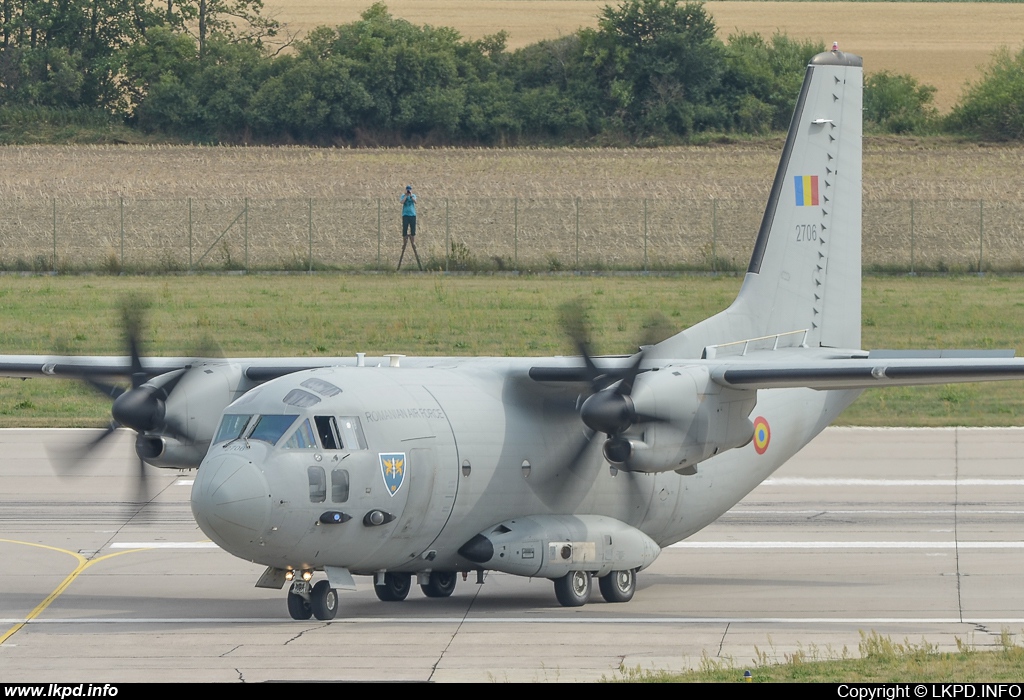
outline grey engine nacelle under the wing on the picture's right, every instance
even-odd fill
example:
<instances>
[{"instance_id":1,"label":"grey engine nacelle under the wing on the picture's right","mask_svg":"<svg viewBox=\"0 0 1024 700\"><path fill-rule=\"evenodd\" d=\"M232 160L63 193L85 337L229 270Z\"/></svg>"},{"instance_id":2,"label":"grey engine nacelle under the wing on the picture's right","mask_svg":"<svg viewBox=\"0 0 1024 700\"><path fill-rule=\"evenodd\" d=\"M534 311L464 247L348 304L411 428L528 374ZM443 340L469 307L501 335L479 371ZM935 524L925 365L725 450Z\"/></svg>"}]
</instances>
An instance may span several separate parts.
<instances>
[{"instance_id":1,"label":"grey engine nacelle under the wing on the picture's right","mask_svg":"<svg viewBox=\"0 0 1024 700\"><path fill-rule=\"evenodd\" d=\"M644 422L605 443L611 464L631 472L693 467L754 437L753 391L726 389L703 367L667 367L637 378L632 399Z\"/></svg>"}]
</instances>

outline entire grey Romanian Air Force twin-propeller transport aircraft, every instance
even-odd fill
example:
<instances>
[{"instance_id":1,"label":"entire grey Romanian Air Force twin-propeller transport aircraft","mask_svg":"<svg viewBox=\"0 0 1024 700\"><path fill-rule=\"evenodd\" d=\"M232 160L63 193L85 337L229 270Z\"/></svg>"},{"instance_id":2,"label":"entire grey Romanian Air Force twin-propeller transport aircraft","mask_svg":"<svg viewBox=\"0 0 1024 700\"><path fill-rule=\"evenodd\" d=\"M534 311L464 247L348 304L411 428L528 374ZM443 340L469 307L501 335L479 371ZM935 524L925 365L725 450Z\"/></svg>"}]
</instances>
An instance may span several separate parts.
<instances>
[{"instance_id":1,"label":"entire grey Romanian Air Force twin-propeller transport aircraft","mask_svg":"<svg viewBox=\"0 0 1024 700\"><path fill-rule=\"evenodd\" d=\"M193 513L227 552L332 619L372 575L401 601L487 570L593 578L629 601L662 548L713 522L866 388L1024 378L983 353L860 350L858 56L807 69L751 263L721 313L630 357L0 358L115 398L140 460L196 468ZM572 321L572 314L568 320ZM569 323L572 325L572 322ZM131 387L108 384L130 377ZM323 576L313 583L312 579Z\"/></svg>"}]
</instances>

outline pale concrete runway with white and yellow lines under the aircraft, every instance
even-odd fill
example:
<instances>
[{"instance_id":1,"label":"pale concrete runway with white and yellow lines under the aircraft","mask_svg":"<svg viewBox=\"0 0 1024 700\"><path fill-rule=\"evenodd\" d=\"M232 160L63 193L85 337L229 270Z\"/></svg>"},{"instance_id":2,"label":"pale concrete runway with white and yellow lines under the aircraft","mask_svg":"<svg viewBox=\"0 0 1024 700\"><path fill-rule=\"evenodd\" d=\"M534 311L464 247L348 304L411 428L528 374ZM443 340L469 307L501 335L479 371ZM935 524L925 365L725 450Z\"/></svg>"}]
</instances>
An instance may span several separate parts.
<instances>
[{"instance_id":1,"label":"pale concrete runway with white and yellow lines under the aircraft","mask_svg":"<svg viewBox=\"0 0 1024 700\"><path fill-rule=\"evenodd\" d=\"M445 600L296 622L262 567L211 545L190 476L137 465L125 433L58 479L0 431L0 677L6 682L595 681L707 656L853 655L862 632L955 648L1024 629L1024 430L829 429L713 526L666 550L629 604L561 608L551 582L488 574ZM596 600L599 597L595 596Z\"/></svg>"}]
</instances>

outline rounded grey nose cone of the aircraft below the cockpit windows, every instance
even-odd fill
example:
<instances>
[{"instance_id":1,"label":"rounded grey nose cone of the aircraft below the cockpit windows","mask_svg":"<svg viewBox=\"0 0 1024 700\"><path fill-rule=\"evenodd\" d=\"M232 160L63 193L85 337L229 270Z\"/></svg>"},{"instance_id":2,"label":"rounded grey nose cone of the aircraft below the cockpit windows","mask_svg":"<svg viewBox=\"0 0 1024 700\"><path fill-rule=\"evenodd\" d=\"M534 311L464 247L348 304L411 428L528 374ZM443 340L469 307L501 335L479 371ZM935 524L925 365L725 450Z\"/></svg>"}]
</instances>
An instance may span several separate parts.
<instances>
[{"instance_id":1,"label":"rounded grey nose cone of the aircraft below the cockpit windows","mask_svg":"<svg viewBox=\"0 0 1024 700\"><path fill-rule=\"evenodd\" d=\"M258 543L270 517L270 490L251 460L221 454L203 461L193 484L193 516L222 549L239 551Z\"/></svg>"}]
</instances>

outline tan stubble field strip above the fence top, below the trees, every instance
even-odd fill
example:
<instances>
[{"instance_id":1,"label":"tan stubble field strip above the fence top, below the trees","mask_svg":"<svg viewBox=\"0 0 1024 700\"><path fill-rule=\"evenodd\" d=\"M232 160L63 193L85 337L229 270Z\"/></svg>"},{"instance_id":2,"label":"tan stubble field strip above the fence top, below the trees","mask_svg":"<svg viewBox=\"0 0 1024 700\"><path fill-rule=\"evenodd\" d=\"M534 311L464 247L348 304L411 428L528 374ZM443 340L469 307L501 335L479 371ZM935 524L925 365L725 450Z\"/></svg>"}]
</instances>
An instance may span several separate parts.
<instances>
[{"instance_id":1,"label":"tan stubble field strip above the fence top, below the trees","mask_svg":"<svg viewBox=\"0 0 1024 700\"><path fill-rule=\"evenodd\" d=\"M782 140L657 149L3 146L0 199L685 198L771 188ZM864 200L1018 201L1024 147L867 139Z\"/></svg>"}]
</instances>

